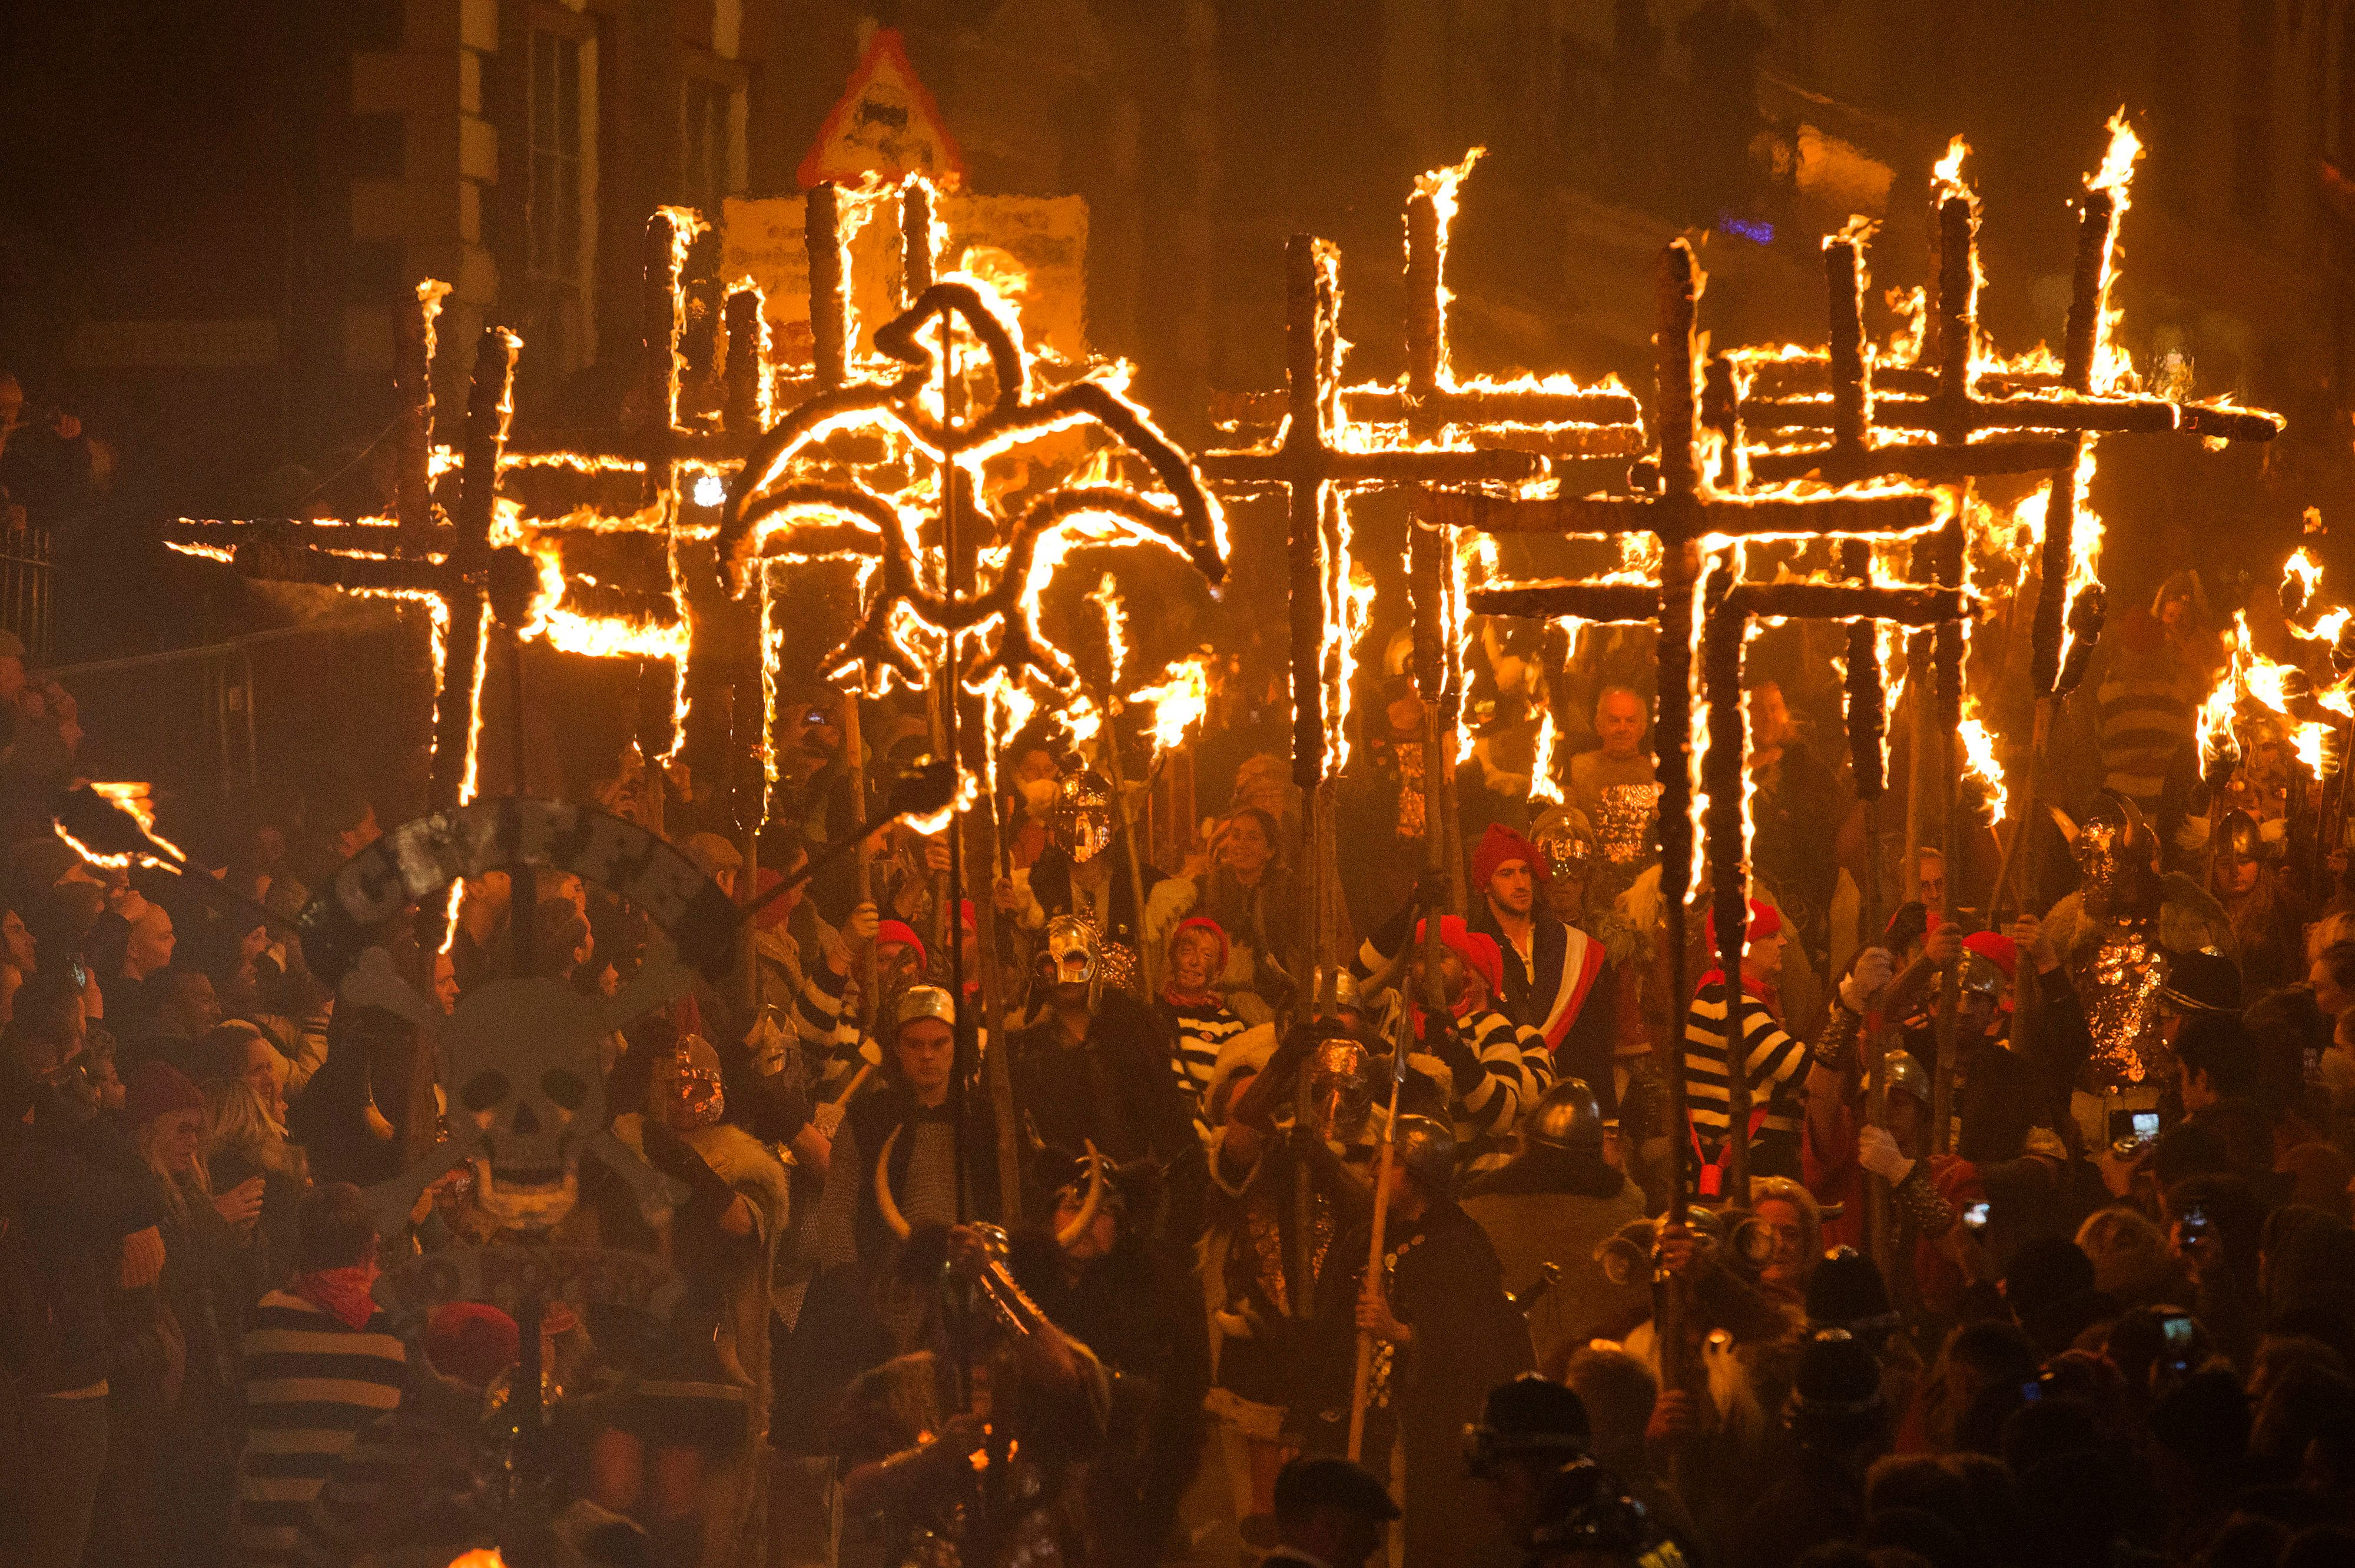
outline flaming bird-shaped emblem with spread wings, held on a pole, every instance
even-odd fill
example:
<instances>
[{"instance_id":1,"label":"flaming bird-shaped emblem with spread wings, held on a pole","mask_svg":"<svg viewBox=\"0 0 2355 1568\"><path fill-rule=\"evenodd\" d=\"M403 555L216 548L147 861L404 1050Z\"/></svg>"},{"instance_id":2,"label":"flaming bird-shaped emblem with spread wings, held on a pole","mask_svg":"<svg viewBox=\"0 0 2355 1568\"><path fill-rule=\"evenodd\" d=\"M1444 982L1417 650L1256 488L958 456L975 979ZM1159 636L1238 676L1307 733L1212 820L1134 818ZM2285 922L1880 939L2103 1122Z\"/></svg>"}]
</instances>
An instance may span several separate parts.
<instances>
[{"instance_id":1,"label":"flaming bird-shaped emblem with spread wings, held on a pole","mask_svg":"<svg viewBox=\"0 0 2355 1568\"><path fill-rule=\"evenodd\" d=\"M1072 544L1156 544L1213 584L1225 577L1225 520L1187 454L1123 396L1116 374L1036 391L1013 311L982 280L930 285L876 330L876 346L900 374L789 412L735 478L716 542L732 593L756 582L765 593L763 558L874 563L860 624L824 657L824 678L921 687L951 659L951 643L970 643L956 664L975 690L991 671L1067 690L1076 673L1039 629L1039 598ZM973 356L987 363L991 396L966 414ZM1053 461L1072 433L1109 438L1154 485L1090 478L1112 471L1097 461L1001 516L1010 487L991 483L991 461ZM862 440L904 454L897 490L876 487L890 466L838 457L834 443ZM963 567L951 556L973 560L973 591L954 586Z\"/></svg>"}]
</instances>

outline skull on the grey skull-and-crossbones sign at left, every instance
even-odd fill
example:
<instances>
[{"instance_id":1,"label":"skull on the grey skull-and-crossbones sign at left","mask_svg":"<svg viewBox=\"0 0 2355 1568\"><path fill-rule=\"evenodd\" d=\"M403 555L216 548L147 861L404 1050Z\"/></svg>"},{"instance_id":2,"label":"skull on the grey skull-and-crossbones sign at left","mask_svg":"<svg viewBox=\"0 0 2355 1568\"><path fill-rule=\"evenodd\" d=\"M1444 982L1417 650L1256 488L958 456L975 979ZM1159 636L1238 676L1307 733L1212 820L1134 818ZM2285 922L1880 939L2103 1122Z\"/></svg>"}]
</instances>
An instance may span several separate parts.
<instances>
[{"instance_id":1,"label":"skull on the grey skull-and-crossbones sign at left","mask_svg":"<svg viewBox=\"0 0 2355 1568\"><path fill-rule=\"evenodd\" d=\"M443 1029L450 1116L480 1132L483 1210L506 1229L549 1229L572 1212L582 1142L605 1125L601 998L558 979L499 979L469 991Z\"/></svg>"}]
</instances>

